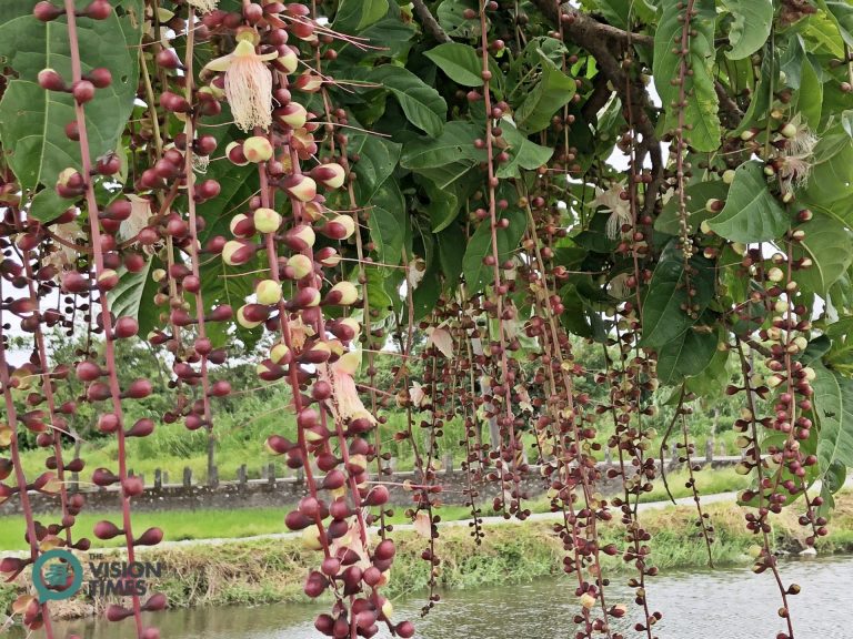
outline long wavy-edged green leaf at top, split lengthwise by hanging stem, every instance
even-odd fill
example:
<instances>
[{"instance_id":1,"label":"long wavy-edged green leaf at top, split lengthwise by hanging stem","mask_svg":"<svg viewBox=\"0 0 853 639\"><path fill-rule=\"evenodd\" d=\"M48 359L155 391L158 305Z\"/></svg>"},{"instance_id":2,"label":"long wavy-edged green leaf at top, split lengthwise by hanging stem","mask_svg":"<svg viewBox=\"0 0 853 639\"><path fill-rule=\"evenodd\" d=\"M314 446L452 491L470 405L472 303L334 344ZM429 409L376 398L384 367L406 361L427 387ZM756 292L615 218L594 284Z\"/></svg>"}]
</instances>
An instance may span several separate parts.
<instances>
[{"instance_id":1,"label":"long wavy-edged green leaf at top, split lengthwise by hanging stem","mask_svg":"<svg viewBox=\"0 0 853 639\"><path fill-rule=\"evenodd\" d=\"M680 77L681 55L673 53L673 43L681 41L684 23L679 17L684 13L681 0L663 0L663 14L654 33L653 77L660 79L655 83L661 97L665 118L661 119L661 128L669 131L679 126L678 111L672 108L679 101L678 85L670 79ZM713 62L714 27L716 8L714 0L698 0L693 3L696 14L690 20L691 30L695 36L690 38L690 69L692 74L685 75L684 89L688 92L688 105L684 108L684 122L692 128L690 145L698 151L715 151L720 146L720 118L717 116L719 100L714 90Z\"/></svg>"}]
</instances>

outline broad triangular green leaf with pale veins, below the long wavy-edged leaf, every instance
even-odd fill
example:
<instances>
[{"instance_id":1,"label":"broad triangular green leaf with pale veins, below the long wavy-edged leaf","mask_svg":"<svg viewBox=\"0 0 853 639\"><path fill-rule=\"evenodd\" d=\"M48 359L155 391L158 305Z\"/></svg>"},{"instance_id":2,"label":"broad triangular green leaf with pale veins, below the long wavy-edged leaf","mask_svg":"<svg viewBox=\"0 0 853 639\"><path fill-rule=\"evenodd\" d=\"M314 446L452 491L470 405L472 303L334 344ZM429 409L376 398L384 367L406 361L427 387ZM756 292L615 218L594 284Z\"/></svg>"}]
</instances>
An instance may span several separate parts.
<instances>
[{"instance_id":1,"label":"broad triangular green leaf with pale veins, below the long wavy-edged leaf","mask_svg":"<svg viewBox=\"0 0 853 639\"><path fill-rule=\"evenodd\" d=\"M767 190L760 162L737 166L725 206L709 226L732 242L765 242L780 237L789 226L789 216Z\"/></svg>"}]
</instances>

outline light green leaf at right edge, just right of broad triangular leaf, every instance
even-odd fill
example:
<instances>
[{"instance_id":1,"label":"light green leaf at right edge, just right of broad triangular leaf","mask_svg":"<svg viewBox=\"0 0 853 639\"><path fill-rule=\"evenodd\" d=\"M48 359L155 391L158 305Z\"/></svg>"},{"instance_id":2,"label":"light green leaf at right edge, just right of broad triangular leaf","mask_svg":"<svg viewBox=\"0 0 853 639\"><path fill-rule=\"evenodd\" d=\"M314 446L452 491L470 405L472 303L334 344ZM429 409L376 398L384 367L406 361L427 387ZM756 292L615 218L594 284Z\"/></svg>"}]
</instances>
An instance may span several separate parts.
<instances>
[{"instance_id":1,"label":"light green leaf at right edge, just right of broad triangular leaf","mask_svg":"<svg viewBox=\"0 0 853 639\"><path fill-rule=\"evenodd\" d=\"M800 260L809 256L813 264L797 271L796 281L805 293L825 296L853 260L853 236L844 224L816 212L802 229L805 239L799 246L794 245L793 257Z\"/></svg>"}]
</instances>

